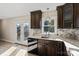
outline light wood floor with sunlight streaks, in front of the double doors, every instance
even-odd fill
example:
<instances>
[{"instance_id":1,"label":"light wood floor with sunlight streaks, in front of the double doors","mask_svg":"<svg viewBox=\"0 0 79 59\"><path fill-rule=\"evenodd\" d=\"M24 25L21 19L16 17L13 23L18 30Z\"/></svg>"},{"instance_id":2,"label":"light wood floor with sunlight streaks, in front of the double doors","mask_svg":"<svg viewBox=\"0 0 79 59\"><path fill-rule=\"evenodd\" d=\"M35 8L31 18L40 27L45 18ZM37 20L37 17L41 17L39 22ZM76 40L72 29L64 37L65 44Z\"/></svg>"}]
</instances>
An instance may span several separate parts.
<instances>
[{"instance_id":1,"label":"light wood floor with sunlight streaks, in front of the double doors","mask_svg":"<svg viewBox=\"0 0 79 59\"><path fill-rule=\"evenodd\" d=\"M28 53L27 46L0 41L0 56L36 56Z\"/></svg>"}]
</instances>

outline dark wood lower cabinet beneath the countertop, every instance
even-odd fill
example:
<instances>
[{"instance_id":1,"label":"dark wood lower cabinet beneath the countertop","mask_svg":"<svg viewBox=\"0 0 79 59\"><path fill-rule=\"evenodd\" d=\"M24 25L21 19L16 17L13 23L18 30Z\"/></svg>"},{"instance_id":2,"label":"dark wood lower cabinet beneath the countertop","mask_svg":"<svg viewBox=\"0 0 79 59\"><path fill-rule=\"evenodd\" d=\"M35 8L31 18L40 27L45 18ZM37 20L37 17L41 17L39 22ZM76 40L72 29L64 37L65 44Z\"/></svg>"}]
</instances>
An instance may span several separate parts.
<instances>
[{"instance_id":1,"label":"dark wood lower cabinet beneath the countertop","mask_svg":"<svg viewBox=\"0 0 79 59\"><path fill-rule=\"evenodd\" d=\"M67 56L65 44L61 41L38 40L40 56Z\"/></svg>"}]
</instances>

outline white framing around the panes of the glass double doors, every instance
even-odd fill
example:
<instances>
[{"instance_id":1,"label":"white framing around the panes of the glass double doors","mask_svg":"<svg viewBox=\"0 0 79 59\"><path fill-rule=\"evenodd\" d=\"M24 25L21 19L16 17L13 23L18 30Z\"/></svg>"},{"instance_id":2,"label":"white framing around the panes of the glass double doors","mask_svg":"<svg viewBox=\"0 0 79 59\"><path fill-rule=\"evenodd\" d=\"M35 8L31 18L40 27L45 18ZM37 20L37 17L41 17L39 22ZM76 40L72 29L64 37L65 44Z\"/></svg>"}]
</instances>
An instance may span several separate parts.
<instances>
[{"instance_id":1,"label":"white framing around the panes of the glass double doors","mask_svg":"<svg viewBox=\"0 0 79 59\"><path fill-rule=\"evenodd\" d=\"M24 37L24 24L28 24L28 29L29 29L29 34L30 34L30 24L29 22L24 22L24 23L21 23L20 26L21 26L21 35L20 35L20 40L17 40L16 39L16 43L19 43L19 44L23 44L23 45L28 45L27 43L27 40L24 40L25 38L28 39L28 37ZM18 24L18 23L17 23ZM17 29L16 29L17 30ZM17 34L17 32L16 32Z\"/></svg>"}]
</instances>

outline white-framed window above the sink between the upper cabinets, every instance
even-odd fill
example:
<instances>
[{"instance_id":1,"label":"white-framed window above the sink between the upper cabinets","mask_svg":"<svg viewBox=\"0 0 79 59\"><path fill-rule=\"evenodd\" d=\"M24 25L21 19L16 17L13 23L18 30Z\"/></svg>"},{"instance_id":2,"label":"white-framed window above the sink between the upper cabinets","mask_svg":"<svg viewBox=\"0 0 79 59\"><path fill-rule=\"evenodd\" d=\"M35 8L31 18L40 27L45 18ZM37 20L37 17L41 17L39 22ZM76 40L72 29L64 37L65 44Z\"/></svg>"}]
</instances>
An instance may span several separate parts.
<instances>
[{"instance_id":1,"label":"white-framed window above the sink between the upper cabinets","mask_svg":"<svg viewBox=\"0 0 79 59\"><path fill-rule=\"evenodd\" d=\"M44 20L43 21L43 25L42 25L42 33L46 34L55 34L56 30L57 30L57 21L55 21L55 19L51 19L51 20Z\"/></svg>"}]
</instances>

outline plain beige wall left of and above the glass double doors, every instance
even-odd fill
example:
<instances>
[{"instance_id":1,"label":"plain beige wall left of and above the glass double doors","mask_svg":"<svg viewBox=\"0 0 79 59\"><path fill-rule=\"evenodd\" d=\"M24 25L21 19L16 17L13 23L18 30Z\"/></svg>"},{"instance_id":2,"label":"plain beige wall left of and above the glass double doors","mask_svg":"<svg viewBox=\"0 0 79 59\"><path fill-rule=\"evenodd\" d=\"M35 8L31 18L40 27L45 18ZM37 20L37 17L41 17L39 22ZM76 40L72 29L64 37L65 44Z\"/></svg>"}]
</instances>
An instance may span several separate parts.
<instances>
[{"instance_id":1,"label":"plain beige wall left of and above the glass double doors","mask_svg":"<svg viewBox=\"0 0 79 59\"><path fill-rule=\"evenodd\" d=\"M2 40L12 43L17 42L16 24L19 23L20 25L22 25L25 22L29 22L28 18L26 18L26 16L20 16L2 20Z\"/></svg>"}]
</instances>

